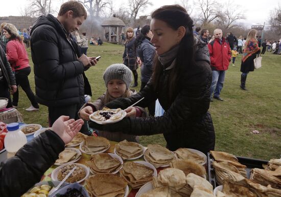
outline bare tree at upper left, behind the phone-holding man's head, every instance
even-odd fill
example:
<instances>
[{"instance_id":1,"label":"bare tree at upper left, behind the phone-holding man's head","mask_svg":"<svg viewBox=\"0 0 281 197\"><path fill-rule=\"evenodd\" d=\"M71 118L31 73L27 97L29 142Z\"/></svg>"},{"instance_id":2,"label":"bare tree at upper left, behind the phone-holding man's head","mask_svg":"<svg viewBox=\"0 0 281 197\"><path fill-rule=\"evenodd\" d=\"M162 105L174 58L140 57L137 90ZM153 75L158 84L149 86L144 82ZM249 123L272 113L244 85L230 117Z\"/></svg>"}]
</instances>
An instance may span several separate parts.
<instances>
[{"instance_id":1,"label":"bare tree at upper left, behind the phone-holding man's head","mask_svg":"<svg viewBox=\"0 0 281 197\"><path fill-rule=\"evenodd\" d=\"M45 16L53 13L52 0L30 0L30 4L25 10L25 14L30 14L30 16Z\"/></svg>"}]
</instances>

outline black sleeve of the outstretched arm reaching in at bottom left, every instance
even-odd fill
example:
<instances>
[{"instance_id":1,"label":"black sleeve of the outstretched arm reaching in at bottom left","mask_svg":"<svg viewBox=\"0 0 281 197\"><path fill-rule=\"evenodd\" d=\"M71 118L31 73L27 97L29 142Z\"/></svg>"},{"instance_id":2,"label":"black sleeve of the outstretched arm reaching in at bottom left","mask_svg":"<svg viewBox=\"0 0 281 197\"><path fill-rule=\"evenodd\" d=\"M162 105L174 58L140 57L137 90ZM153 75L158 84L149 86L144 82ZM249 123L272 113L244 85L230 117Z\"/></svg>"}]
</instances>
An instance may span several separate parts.
<instances>
[{"instance_id":1,"label":"black sleeve of the outstretched arm reaching in at bottom left","mask_svg":"<svg viewBox=\"0 0 281 197\"><path fill-rule=\"evenodd\" d=\"M0 196L20 196L40 182L64 150L62 139L54 131L45 131L1 163Z\"/></svg>"}]
</instances>

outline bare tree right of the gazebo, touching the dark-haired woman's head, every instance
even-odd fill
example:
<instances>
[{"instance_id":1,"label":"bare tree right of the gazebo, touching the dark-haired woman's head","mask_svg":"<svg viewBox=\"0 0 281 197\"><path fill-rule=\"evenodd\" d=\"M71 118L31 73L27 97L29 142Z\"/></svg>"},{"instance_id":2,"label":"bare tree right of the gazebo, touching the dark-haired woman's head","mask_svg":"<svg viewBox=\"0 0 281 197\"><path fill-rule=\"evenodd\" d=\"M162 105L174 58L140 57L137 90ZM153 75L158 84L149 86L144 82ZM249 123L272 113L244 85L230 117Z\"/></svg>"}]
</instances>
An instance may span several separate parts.
<instances>
[{"instance_id":1,"label":"bare tree right of the gazebo, touching the dark-haired woman's head","mask_svg":"<svg viewBox=\"0 0 281 197\"><path fill-rule=\"evenodd\" d=\"M136 16L140 11L145 9L148 5L152 6L149 0L128 0L130 12L130 24L132 25Z\"/></svg>"}]
</instances>

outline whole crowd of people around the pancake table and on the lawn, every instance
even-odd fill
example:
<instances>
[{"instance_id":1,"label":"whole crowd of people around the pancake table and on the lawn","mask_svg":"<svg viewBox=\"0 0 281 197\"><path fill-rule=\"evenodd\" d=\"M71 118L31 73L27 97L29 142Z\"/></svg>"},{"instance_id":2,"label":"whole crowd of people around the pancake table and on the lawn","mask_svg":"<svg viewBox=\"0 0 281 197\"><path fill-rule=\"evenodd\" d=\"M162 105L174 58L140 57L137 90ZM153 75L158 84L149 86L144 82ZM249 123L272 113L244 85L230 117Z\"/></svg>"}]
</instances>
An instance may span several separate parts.
<instances>
[{"instance_id":1,"label":"whole crowd of people around the pancake table and on the lawn","mask_svg":"<svg viewBox=\"0 0 281 197\"><path fill-rule=\"evenodd\" d=\"M246 78L253 71L253 60L262 45L255 30L251 30L245 39L242 36L237 39L232 33L224 37L220 29L214 31L213 37L200 27L193 31L193 20L184 8L162 6L151 14L150 25L138 26L136 31L127 28L123 64L107 67L103 74L106 91L91 103L84 97L85 94L91 95L85 72L98 61L96 57L87 56L86 33L78 33L86 18L83 5L69 1L61 5L57 17L52 14L40 16L33 24L30 46L36 96L30 89L28 75L31 69L23 39L14 25L1 26L8 42L6 51L0 47L3 70L0 72L0 96L9 98L11 89L13 100L9 98L9 106L16 107L18 86L22 87L32 104L29 110L38 110L38 103L48 106L49 125L53 130L39 135L13 159L6 161L0 169L1 183L7 186L0 190L1 196L20 195L33 186L54 163L63 145L78 131L91 135L88 126L98 130L100 136L116 142L124 139L138 142L139 135L162 133L171 151L192 148L207 154L214 150L215 129L208 112L210 102L213 98L223 101L220 93L226 70L231 60L235 65L239 53L242 53L240 88L247 90ZM91 39L90 43L96 42ZM138 67L141 69L141 85L140 92L136 93L130 87L138 86ZM131 106L140 99L143 100L137 106ZM159 117L154 116L157 99L163 109ZM89 115L104 106L120 107L127 116L107 125L89 121ZM50 140L57 144L50 144ZM42 150L44 146L51 149ZM27 154L25 150L30 147L34 149ZM56 150L52 151L52 148ZM41 158L42 154L48 156ZM22 159L29 157L40 157L41 160L31 163ZM17 176L7 174L12 164L24 166L20 176L31 177L28 183L18 186L24 181L22 178L19 184L11 184L14 180L11 177ZM29 168L36 168L36 173Z\"/></svg>"}]
</instances>

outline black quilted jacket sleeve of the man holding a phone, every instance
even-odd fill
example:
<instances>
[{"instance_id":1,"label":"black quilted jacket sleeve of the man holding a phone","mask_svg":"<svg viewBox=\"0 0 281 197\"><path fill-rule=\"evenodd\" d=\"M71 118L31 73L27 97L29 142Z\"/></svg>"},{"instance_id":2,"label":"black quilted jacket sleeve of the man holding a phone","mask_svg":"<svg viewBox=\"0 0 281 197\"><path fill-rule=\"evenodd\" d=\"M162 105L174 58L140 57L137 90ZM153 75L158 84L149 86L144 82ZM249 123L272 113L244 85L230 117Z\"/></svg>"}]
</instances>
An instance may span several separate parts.
<instances>
[{"instance_id":1,"label":"black quilted jacket sleeve of the man holding a phone","mask_svg":"<svg viewBox=\"0 0 281 197\"><path fill-rule=\"evenodd\" d=\"M41 28L43 28L41 30ZM38 30L37 30L38 29ZM84 72L83 63L80 61L60 62L59 57L59 38L56 31L49 25L37 27L32 34L32 51L36 51L36 56L32 57L33 62L37 63L35 74L43 77L48 76L50 80L63 80L78 76ZM70 45L70 44L69 44ZM42 47L44 46L44 47ZM65 50L65 53L71 54L72 49Z\"/></svg>"}]
</instances>

